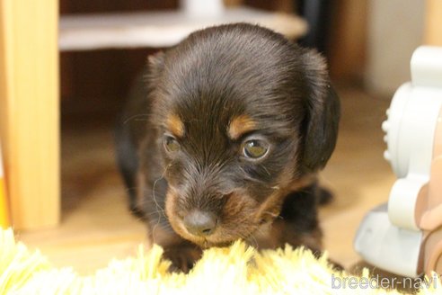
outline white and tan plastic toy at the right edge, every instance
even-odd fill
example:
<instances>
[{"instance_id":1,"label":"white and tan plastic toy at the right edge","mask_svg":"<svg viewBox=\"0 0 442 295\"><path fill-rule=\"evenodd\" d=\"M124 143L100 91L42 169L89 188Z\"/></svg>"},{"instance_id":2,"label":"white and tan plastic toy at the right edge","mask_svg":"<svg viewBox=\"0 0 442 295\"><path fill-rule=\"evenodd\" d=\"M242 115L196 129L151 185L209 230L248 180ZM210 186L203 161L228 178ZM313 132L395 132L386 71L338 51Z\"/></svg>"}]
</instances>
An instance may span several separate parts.
<instances>
[{"instance_id":1,"label":"white and tan plastic toy at the right edge","mask_svg":"<svg viewBox=\"0 0 442 295\"><path fill-rule=\"evenodd\" d=\"M420 47L411 83L394 94L382 124L398 177L387 204L368 212L354 241L379 268L418 277L442 273L442 48Z\"/></svg>"}]
</instances>

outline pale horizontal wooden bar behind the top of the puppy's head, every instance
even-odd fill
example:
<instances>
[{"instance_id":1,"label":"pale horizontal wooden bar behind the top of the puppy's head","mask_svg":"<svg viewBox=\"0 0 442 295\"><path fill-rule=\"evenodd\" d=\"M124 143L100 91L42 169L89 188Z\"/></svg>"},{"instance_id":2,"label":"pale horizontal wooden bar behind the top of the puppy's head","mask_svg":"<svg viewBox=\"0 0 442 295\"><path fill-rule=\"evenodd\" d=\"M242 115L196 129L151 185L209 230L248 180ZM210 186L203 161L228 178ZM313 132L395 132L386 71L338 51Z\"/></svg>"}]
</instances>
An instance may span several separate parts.
<instances>
[{"instance_id":1,"label":"pale horizontal wooden bar behind the top of the puppy's head","mask_svg":"<svg viewBox=\"0 0 442 295\"><path fill-rule=\"evenodd\" d=\"M236 7L210 17L191 17L176 11L66 15L60 19L60 50L171 47L190 32L226 22L259 23L295 39L305 34L306 23L287 13L269 13Z\"/></svg>"}]
</instances>

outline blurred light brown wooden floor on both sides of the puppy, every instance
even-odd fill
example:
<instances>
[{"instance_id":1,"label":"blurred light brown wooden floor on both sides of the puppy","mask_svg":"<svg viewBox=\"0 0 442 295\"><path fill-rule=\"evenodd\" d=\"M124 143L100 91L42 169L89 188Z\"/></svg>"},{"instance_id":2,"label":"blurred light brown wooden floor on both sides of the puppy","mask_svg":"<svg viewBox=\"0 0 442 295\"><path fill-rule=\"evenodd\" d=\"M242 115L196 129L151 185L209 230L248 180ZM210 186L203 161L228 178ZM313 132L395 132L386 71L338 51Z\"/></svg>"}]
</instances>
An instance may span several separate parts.
<instances>
[{"instance_id":1,"label":"blurred light brown wooden floor on both sides of the puppy","mask_svg":"<svg viewBox=\"0 0 442 295\"><path fill-rule=\"evenodd\" d=\"M353 237L367 210L387 200L394 175L383 158L380 129L389 100L340 87L342 121L336 152L322 174L335 200L321 210L325 247L345 267L358 264ZM111 258L135 255L146 228L127 210L114 164L110 127L66 127L62 133L63 213L59 227L18 232L56 266L92 273Z\"/></svg>"}]
</instances>

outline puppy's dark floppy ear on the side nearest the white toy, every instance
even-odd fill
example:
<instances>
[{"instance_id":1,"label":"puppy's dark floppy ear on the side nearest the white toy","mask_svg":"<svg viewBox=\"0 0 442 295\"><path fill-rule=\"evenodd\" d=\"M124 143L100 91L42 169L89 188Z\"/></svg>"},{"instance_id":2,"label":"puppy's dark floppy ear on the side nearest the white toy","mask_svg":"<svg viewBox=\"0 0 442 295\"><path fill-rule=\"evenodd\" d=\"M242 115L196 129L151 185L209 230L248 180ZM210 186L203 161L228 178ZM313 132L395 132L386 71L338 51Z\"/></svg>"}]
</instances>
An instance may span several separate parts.
<instances>
[{"instance_id":1,"label":"puppy's dark floppy ear on the side nearest the white toy","mask_svg":"<svg viewBox=\"0 0 442 295\"><path fill-rule=\"evenodd\" d=\"M323 169L336 146L340 101L330 83L324 58L314 50L306 50L303 59L307 114L301 163L305 172L315 172Z\"/></svg>"}]
</instances>

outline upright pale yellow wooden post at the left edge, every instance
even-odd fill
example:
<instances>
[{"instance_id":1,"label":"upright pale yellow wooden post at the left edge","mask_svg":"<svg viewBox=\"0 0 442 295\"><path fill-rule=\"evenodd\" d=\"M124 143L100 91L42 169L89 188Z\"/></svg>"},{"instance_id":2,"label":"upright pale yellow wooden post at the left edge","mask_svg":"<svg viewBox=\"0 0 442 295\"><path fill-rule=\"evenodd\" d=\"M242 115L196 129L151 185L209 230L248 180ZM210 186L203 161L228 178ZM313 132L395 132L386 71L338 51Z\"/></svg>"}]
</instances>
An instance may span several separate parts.
<instances>
[{"instance_id":1,"label":"upright pale yellow wooden post at the left edge","mask_svg":"<svg viewBox=\"0 0 442 295\"><path fill-rule=\"evenodd\" d=\"M0 135L14 228L59 212L57 0L0 1Z\"/></svg>"}]
</instances>

